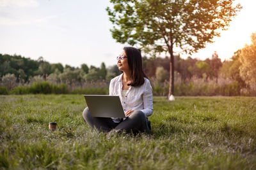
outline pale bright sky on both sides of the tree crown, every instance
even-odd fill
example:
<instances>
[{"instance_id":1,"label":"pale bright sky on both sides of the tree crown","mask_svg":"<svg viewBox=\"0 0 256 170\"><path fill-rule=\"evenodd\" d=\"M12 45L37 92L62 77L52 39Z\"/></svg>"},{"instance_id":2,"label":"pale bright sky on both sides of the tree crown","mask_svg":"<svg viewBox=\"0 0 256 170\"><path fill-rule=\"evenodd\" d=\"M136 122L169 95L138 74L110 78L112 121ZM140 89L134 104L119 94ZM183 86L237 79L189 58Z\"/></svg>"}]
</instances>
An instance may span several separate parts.
<instances>
[{"instance_id":1,"label":"pale bright sky on both sides of the tree crown","mask_svg":"<svg viewBox=\"0 0 256 170\"><path fill-rule=\"evenodd\" d=\"M230 22L228 31L214 38L192 58L211 58L216 51L228 60L236 50L250 44L256 32L253 20L256 1L236 0L243 9ZM99 67L116 64L116 56L125 46L116 43L109 29L107 0L0 0L0 53L21 55L30 59L44 57L50 63L65 66ZM182 55L186 59L189 55Z\"/></svg>"}]
</instances>

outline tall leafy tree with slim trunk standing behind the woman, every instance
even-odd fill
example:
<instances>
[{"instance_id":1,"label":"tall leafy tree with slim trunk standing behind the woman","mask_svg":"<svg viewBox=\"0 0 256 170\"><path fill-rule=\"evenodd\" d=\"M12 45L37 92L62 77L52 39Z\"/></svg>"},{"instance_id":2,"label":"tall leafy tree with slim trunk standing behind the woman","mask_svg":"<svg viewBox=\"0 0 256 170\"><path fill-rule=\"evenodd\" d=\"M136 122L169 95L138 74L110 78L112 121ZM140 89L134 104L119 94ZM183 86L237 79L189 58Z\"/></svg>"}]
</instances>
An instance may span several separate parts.
<instances>
[{"instance_id":1,"label":"tall leafy tree with slim trunk standing behind the woman","mask_svg":"<svg viewBox=\"0 0 256 170\"><path fill-rule=\"evenodd\" d=\"M174 90L174 53L197 52L226 30L241 10L234 0L111 0L106 8L119 43L138 45L145 53L170 54L170 89Z\"/></svg>"}]
</instances>

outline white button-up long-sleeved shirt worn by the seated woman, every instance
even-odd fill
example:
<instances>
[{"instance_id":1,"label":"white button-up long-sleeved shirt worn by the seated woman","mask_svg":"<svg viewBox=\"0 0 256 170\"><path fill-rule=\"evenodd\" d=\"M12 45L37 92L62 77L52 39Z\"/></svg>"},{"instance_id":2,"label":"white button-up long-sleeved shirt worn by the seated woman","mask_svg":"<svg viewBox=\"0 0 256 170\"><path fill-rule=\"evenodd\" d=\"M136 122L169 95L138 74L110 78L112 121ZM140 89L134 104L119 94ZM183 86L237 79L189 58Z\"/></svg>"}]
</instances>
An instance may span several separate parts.
<instances>
[{"instance_id":1,"label":"white button-up long-sleeved shirt worn by the seated woman","mask_svg":"<svg viewBox=\"0 0 256 170\"><path fill-rule=\"evenodd\" d=\"M153 112L153 95L150 81L144 78L145 82L139 87L130 86L127 90L124 99L122 99L122 76L124 73L116 76L110 81L109 95L119 96L124 112L127 110L140 110L147 117Z\"/></svg>"}]
</instances>

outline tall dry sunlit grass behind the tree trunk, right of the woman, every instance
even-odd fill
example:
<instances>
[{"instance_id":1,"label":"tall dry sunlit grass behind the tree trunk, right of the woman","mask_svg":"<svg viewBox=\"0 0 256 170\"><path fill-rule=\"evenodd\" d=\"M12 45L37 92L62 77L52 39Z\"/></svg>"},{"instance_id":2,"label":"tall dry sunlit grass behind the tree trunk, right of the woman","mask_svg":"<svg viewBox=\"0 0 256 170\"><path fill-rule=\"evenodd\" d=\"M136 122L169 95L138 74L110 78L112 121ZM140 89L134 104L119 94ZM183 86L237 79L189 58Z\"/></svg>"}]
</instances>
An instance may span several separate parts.
<instances>
[{"instance_id":1,"label":"tall dry sunlit grass behind the tree trunk, right of the woman","mask_svg":"<svg viewBox=\"0 0 256 170\"><path fill-rule=\"evenodd\" d=\"M153 81L153 92L155 96L167 96L169 82L157 83ZM193 81L177 81L174 84L175 96L256 96L255 90L243 89L237 81L215 80L205 81L196 78Z\"/></svg>"}]
</instances>

